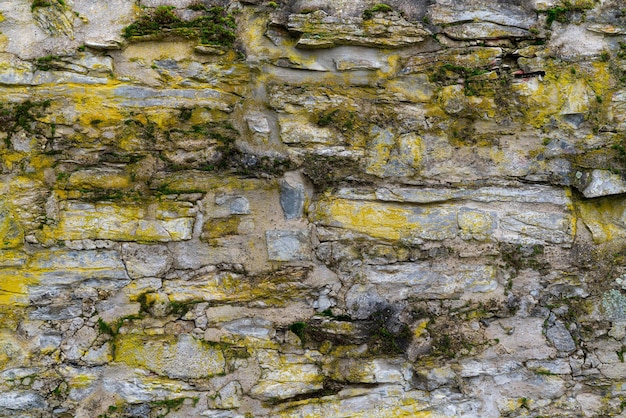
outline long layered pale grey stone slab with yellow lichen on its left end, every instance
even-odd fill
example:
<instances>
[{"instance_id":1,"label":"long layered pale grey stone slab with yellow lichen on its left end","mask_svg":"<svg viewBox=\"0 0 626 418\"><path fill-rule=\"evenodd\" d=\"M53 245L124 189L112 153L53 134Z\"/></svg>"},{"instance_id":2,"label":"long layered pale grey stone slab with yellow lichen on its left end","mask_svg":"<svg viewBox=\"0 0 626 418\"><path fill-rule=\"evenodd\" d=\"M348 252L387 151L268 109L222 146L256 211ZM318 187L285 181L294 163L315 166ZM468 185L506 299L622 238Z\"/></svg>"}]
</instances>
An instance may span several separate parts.
<instances>
[{"instance_id":1,"label":"long layered pale grey stone slab with yellow lichen on its left end","mask_svg":"<svg viewBox=\"0 0 626 418\"><path fill-rule=\"evenodd\" d=\"M313 219L318 224L339 227L386 240L445 240L460 236L478 241L494 240L516 244L553 243L564 246L573 242L573 217L567 207L538 211L534 205L516 211L507 206L481 210L474 205L454 202L455 199L476 202L532 202L565 205L564 193L548 188L546 196L540 189L530 194L508 193L506 189L478 190L386 189L357 191L340 189L338 197L320 200ZM554 193L551 193L554 192ZM346 197L346 198L343 198ZM380 200L379 200L380 199ZM403 205L402 202L441 205ZM447 202L449 201L449 202ZM393 202L393 203L391 203ZM398 203L395 203L398 202Z\"/></svg>"}]
</instances>

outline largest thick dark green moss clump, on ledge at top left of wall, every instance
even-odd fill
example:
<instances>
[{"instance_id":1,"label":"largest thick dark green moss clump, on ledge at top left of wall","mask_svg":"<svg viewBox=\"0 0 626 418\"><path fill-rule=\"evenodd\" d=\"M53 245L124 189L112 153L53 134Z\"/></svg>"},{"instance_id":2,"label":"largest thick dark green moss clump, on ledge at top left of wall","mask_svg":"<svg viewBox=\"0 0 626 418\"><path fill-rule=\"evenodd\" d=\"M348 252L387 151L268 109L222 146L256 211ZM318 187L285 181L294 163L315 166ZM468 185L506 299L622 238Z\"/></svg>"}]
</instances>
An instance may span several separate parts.
<instances>
[{"instance_id":1,"label":"largest thick dark green moss clump, on ledge at top left of wall","mask_svg":"<svg viewBox=\"0 0 626 418\"><path fill-rule=\"evenodd\" d=\"M159 6L146 11L137 21L125 27L125 38L146 35L172 34L197 38L201 44L232 47L235 42L235 19L223 7L190 6L201 11L202 16L190 21L182 20L174 6Z\"/></svg>"}]
</instances>

